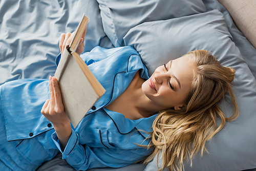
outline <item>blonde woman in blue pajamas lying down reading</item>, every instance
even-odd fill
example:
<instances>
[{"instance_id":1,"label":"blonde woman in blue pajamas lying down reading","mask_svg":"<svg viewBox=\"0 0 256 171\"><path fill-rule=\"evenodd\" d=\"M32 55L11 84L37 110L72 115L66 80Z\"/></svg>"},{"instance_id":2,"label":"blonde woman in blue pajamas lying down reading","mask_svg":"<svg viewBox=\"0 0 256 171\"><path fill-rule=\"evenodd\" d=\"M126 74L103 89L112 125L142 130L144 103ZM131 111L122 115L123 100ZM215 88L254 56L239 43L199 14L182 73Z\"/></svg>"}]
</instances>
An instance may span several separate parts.
<instances>
[{"instance_id":1,"label":"blonde woman in blue pajamas lying down reading","mask_svg":"<svg viewBox=\"0 0 256 171\"><path fill-rule=\"evenodd\" d=\"M72 36L70 33L61 35L61 52L69 44ZM81 39L77 53L81 54L82 51ZM172 130L172 124L166 123L165 115L170 115L170 118L175 116L176 120L182 120L183 115L190 114L192 116L193 112L197 112L193 108L199 108L200 114L208 114L208 111L211 111L210 120L208 117L205 119L209 120L207 123L210 126L214 125L216 120L214 113L215 111L219 112L216 104L224 97L224 94L217 99L218 101L209 99L209 104L203 107L205 111L202 110L201 105L194 104L197 101L203 101L204 97L200 92L204 90L202 89L204 86L198 76L201 72L200 66L198 67L198 63L191 55L182 56L158 67L151 78L148 77L147 69L139 54L131 47L110 50L96 47L90 53L82 54L81 57L106 89L106 93L89 110L76 129L72 127L65 114L55 77L50 77L49 81L44 79L16 80L7 82L0 87L2 121L0 150L4 152L0 154L1 170L9 168L12 170L34 170L42 162L52 159L58 151L62 153L62 158L77 170L107 166L122 167L150 154L150 150L141 146L150 143L151 139L148 138L147 133L152 131L152 123L156 117L152 133L153 143L157 145L155 149L163 149L163 153L168 152L169 144L164 143L161 136L156 138L155 135L158 136L161 130L164 132L168 130L165 129L166 126L161 127L162 123L168 124ZM200 58L202 59L202 57ZM199 65L201 64L199 63ZM225 67L218 65L216 68L222 70ZM226 76L228 79L220 81L220 84L230 86L234 71L229 68L225 68L225 71L229 73L219 77ZM211 73L206 73L206 75L211 76ZM219 89L216 89L212 92L218 94L218 91ZM211 92L207 92L206 95L211 95ZM49 97L50 99L47 100ZM234 106L236 107L235 102ZM159 111L164 112L157 116ZM40 112L43 115L39 115ZM234 113L233 116L236 115L237 113ZM183 121L187 120L186 117L184 119ZM213 122L210 123L210 121ZM201 124L201 122L195 121L189 126L199 123ZM183 124L179 127L182 126ZM189 130L186 126L184 129ZM206 132L208 135L207 131L206 128L206 131L202 132ZM214 133L218 131L217 129ZM179 129L174 130L172 134L175 135L177 132ZM178 134L177 137L179 137ZM191 136L189 140L192 141L193 138L195 137ZM166 139L165 134L163 139ZM159 146L155 140L160 144L163 142L164 145ZM179 140L187 143L185 138L178 138L177 141ZM203 144L205 140L207 139L203 139ZM177 144L177 146L180 145ZM166 150L165 147L167 147ZM180 147L184 147L186 152L186 146ZM198 147L202 147L202 145L199 144ZM151 156L157 154L158 151L156 151ZM170 152L169 154L173 155L174 153ZM150 158L148 159L150 160ZM169 158L166 158L166 161L168 160ZM179 158L175 161L182 164L182 160ZM171 163L171 165L173 166L175 163Z\"/></svg>"}]
</instances>

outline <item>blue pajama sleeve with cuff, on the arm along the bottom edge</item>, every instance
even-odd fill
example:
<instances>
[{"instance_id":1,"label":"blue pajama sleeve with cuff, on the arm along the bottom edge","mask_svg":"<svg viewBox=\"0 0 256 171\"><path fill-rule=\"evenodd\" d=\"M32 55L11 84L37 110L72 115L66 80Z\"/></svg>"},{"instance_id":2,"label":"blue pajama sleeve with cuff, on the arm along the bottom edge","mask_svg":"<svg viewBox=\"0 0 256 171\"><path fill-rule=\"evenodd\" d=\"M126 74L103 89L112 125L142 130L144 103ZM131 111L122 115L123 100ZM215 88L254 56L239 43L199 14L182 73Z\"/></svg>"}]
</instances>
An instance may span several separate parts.
<instances>
[{"instance_id":1,"label":"blue pajama sleeve with cuff, on the arm along the bottom edge","mask_svg":"<svg viewBox=\"0 0 256 171\"><path fill-rule=\"evenodd\" d=\"M146 148L139 146L135 146L134 149L91 148L88 145L79 144L79 136L74 130L72 130L71 137L64 151L61 150L57 142L58 137L56 133L52 134L52 139L62 153L62 159L66 159L76 170L124 167L142 159L142 154L145 155L150 152Z\"/></svg>"}]
</instances>

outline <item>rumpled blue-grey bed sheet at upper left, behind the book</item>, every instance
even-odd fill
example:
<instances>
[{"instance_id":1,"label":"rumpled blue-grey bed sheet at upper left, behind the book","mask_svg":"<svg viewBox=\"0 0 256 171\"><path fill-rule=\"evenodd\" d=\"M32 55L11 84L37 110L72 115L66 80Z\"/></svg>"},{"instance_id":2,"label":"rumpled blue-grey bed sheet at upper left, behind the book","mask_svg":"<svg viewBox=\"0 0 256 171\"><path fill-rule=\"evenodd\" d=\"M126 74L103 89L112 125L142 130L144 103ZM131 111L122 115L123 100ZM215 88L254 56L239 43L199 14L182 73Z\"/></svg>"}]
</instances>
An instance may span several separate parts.
<instances>
[{"instance_id":1,"label":"rumpled blue-grey bed sheet at upper left, behind the book","mask_svg":"<svg viewBox=\"0 0 256 171\"><path fill-rule=\"evenodd\" d=\"M0 1L0 84L54 75L59 36L75 31L83 13L91 18L84 49L90 51L105 36L96 1Z\"/></svg>"}]
</instances>

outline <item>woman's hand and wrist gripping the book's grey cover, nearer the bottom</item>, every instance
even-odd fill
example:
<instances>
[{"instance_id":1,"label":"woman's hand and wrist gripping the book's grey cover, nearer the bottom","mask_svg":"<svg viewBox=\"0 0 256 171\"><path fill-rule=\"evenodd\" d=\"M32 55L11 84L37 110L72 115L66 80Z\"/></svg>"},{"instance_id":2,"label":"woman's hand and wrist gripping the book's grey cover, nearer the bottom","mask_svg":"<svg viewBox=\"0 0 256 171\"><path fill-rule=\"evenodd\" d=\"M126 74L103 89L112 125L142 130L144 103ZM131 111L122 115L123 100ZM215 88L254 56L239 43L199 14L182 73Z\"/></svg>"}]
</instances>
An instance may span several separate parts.
<instances>
[{"instance_id":1,"label":"woman's hand and wrist gripping the book's grey cover, nearer the bottom","mask_svg":"<svg viewBox=\"0 0 256 171\"><path fill-rule=\"evenodd\" d=\"M70 120L65 113L58 81L55 77L49 78L50 99L42 106L41 113L54 126L61 149L65 149L72 134Z\"/></svg>"}]
</instances>

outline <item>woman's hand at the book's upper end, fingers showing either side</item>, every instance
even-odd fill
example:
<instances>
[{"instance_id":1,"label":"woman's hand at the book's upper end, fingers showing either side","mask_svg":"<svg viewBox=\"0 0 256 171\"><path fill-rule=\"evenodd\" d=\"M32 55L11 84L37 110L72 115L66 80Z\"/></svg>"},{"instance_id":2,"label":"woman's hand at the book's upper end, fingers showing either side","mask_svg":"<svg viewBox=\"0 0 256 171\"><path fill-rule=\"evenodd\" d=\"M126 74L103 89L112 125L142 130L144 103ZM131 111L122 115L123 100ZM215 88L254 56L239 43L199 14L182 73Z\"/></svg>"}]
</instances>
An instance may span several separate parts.
<instances>
[{"instance_id":1,"label":"woman's hand at the book's upper end, fingers showing either side","mask_svg":"<svg viewBox=\"0 0 256 171\"><path fill-rule=\"evenodd\" d=\"M86 29L87 30L87 29ZM81 40L78 44L78 47L76 49L76 53L78 53L79 55L81 55L81 53L83 52L84 49L84 37L86 36L86 30L84 30ZM74 37L75 32L73 33L62 33L59 37L59 49L60 49L60 53L62 54L64 49L70 44L72 38Z\"/></svg>"}]
</instances>

